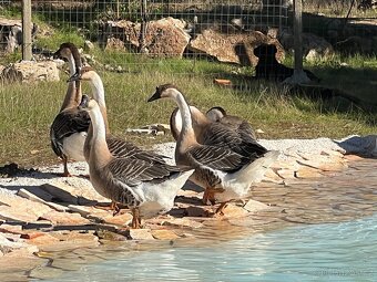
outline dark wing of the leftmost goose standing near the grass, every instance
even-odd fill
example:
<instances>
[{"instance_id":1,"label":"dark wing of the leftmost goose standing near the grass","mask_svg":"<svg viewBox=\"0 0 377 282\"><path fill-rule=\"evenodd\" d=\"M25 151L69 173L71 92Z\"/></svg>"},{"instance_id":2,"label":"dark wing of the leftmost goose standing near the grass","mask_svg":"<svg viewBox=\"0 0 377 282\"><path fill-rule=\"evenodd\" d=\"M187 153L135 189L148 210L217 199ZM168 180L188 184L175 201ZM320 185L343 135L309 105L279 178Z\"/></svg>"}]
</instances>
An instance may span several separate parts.
<instances>
[{"instance_id":1,"label":"dark wing of the leftmost goose standing near the grass","mask_svg":"<svg viewBox=\"0 0 377 282\"><path fill-rule=\"evenodd\" d=\"M74 133L88 132L89 114L78 108L60 112L50 127L50 139L53 152L62 156L63 139Z\"/></svg>"}]
</instances>

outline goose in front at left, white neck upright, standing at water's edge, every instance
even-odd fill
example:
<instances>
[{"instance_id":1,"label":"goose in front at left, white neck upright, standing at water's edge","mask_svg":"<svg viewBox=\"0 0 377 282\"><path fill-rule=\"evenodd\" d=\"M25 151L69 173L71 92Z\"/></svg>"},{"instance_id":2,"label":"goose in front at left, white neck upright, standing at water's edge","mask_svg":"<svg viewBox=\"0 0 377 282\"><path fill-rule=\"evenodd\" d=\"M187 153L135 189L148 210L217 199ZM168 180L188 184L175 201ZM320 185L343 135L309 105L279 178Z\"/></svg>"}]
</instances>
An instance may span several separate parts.
<instances>
[{"instance_id":1,"label":"goose in front at left, white neck upright, standing at water's edge","mask_svg":"<svg viewBox=\"0 0 377 282\"><path fill-rule=\"evenodd\" d=\"M194 170L136 157L114 157L108 147L105 122L99 104L83 95L80 107L88 111L92 121L88 164L94 189L132 210L132 228L140 228L141 218L170 211L177 191Z\"/></svg>"}]
</instances>

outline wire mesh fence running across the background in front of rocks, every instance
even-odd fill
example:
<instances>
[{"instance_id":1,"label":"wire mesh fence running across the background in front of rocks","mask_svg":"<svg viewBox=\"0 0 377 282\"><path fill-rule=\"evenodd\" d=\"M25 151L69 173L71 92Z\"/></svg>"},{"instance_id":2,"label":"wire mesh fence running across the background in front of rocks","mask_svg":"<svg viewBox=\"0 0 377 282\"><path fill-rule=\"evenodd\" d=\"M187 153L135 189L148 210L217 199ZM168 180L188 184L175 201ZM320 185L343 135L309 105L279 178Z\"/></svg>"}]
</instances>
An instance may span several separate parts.
<instances>
[{"instance_id":1,"label":"wire mesh fence running across the background in front of rocks","mask_svg":"<svg viewBox=\"0 0 377 282\"><path fill-rule=\"evenodd\" d=\"M21 0L0 0L0 12L11 11L17 17L22 9L21 3ZM78 38L89 40L101 49L121 51L120 55L124 58L130 54L147 54L159 60L166 56L211 58L241 64L244 63L242 58L233 54L234 42L238 41L248 42L245 44L246 53L259 43L277 41L285 51L295 54L296 61L300 61L303 51L305 63L320 61L333 55L334 51L377 53L376 1L304 0L303 13L293 9L294 4L297 8L297 3L302 1L33 0L31 14L35 25L30 29L35 34L32 34L33 42L30 44L34 54L43 53L51 49L45 43L50 36L59 38L61 33L62 40L70 40L69 34L74 31L73 41ZM175 20L161 24L167 29L174 25L179 32L153 25L153 22L169 17ZM297 17L298 23L303 17L304 33L300 33L299 25L298 30L294 28ZM16 31L7 30L4 25L0 29L0 49L9 49L7 40ZM197 40L201 36L217 45L202 46L204 43ZM234 50L227 50L226 44ZM249 52L247 55L253 56ZM141 61L133 62L142 65ZM296 62L296 67L300 67L300 62Z\"/></svg>"}]
</instances>

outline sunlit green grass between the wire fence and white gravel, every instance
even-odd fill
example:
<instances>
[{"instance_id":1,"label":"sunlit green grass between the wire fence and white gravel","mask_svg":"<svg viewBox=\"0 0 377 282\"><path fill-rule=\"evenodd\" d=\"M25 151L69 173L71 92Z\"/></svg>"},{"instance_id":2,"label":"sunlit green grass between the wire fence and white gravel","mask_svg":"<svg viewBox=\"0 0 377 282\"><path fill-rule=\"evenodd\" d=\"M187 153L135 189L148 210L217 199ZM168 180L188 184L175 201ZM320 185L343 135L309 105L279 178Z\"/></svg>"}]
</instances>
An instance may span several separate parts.
<instances>
[{"instance_id":1,"label":"sunlit green grass between the wire fence and white gravel","mask_svg":"<svg viewBox=\"0 0 377 282\"><path fill-rule=\"evenodd\" d=\"M172 101L146 103L155 86L176 84L187 101L206 111L214 105L224 106L228 113L240 115L265 134L261 138L344 137L349 134L376 133L376 116L360 109L339 109L336 102L313 102L305 97L284 95L279 86L244 81L245 90L222 88L213 84L217 70L222 73L232 67L211 62L181 60L182 72L161 64L139 72L112 73L99 70L103 79L111 130L128 137L140 146L172 140L171 136L145 137L125 134L152 123L169 123L175 104ZM164 63L167 64L167 61ZM176 62L176 60L173 60ZM197 64L203 64L203 67ZM206 67L204 67L206 65ZM185 69L186 67L186 69ZM190 70L194 70L188 74ZM205 71L203 71L205 70ZM220 73L221 73L220 72ZM61 82L40 82L38 86L9 84L0 87L0 165L47 165L58 163L50 148L49 127L65 94L65 74ZM84 93L90 93L84 85Z\"/></svg>"}]
</instances>

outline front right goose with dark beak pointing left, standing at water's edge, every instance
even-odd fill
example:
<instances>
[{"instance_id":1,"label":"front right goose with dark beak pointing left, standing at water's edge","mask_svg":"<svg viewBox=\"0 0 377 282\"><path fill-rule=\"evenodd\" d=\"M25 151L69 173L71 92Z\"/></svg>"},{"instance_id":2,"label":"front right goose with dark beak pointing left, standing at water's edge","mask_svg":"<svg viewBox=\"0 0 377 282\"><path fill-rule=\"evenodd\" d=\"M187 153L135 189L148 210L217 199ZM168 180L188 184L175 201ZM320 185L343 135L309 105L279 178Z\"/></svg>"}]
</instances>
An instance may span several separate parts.
<instances>
[{"instance_id":1,"label":"front right goose with dark beak pointing left, standing at water's edge","mask_svg":"<svg viewBox=\"0 0 377 282\"><path fill-rule=\"evenodd\" d=\"M221 202L215 215L222 215L226 203L242 199L251 185L263 179L266 169L277 159L277 150L249 154L247 157L225 146L200 144L194 132L191 108L182 92L173 84L156 87L147 100L171 98L177 104L182 129L175 147L175 161L179 166L195 169L190 178L205 189L204 196Z\"/></svg>"}]
</instances>

